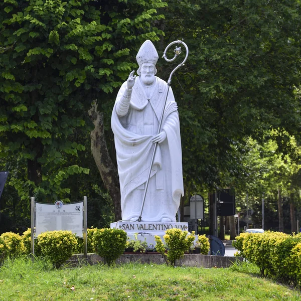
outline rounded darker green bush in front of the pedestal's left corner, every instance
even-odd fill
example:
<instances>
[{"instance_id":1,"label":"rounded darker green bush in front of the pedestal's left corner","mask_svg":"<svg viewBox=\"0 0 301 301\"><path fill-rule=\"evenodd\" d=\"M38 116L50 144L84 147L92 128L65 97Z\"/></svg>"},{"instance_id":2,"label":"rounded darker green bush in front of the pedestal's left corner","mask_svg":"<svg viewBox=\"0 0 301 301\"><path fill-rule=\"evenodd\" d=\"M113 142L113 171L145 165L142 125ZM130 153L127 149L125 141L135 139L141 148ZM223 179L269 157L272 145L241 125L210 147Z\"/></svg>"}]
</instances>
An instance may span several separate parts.
<instances>
[{"instance_id":1,"label":"rounded darker green bush in front of the pedestal's left corner","mask_svg":"<svg viewBox=\"0 0 301 301\"><path fill-rule=\"evenodd\" d=\"M96 253L103 257L109 265L112 264L126 248L126 232L121 229L97 229L93 235Z\"/></svg>"}]
</instances>

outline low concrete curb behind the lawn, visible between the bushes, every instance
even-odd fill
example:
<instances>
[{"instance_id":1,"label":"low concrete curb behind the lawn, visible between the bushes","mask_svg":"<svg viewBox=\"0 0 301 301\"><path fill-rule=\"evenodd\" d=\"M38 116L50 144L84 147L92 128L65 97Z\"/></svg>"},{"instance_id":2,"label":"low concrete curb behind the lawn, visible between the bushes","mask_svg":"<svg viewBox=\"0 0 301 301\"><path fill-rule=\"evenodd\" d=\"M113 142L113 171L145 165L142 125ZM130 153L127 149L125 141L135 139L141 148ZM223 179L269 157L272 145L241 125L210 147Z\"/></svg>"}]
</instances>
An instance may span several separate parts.
<instances>
[{"instance_id":1,"label":"low concrete curb behind the lawn, visible between the bushes","mask_svg":"<svg viewBox=\"0 0 301 301\"><path fill-rule=\"evenodd\" d=\"M97 254L88 254L88 264L98 264L103 262L102 257ZM176 266L195 266L195 267L218 267L226 268L233 264L233 262L243 261L242 257L224 257L214 255L201 254L185 254L184 258L176 261ZM83 254L74 254L68 263L71 265L78 265L83 262ZM164 257L161 254L123 254L117 260L117 264L136 262L141 264L166 264Z\"/></svg>"}]
</instances>

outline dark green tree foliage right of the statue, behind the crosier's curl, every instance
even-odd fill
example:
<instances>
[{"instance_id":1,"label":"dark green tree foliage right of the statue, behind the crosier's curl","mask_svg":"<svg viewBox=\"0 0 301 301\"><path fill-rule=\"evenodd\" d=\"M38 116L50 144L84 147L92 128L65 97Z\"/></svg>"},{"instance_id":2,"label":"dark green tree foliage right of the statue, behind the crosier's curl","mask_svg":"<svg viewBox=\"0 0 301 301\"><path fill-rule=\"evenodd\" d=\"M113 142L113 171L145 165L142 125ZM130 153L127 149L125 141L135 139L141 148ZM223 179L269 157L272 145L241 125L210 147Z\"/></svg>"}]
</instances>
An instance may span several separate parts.
<instances>
[{"instance_id":1,"label":"dark green tree foliage right of the statue, behind the crosier's curl","mask_svg":"<svg viewBox=\"0 0 301 301\"><path fill-rule=\"evenodd\" d=\"M168 5L164 44L180 33L189 47L188 61L172 83L186 188L227 186L228 175L247 183L252 174L232 146L241 143L243 154L245 137L261 141L270 128L300 139L299 3L171 0ZM172 68L162 68L165 78ZM285 147L285 140L273 139Z\"/></svg>"}]
</instances>

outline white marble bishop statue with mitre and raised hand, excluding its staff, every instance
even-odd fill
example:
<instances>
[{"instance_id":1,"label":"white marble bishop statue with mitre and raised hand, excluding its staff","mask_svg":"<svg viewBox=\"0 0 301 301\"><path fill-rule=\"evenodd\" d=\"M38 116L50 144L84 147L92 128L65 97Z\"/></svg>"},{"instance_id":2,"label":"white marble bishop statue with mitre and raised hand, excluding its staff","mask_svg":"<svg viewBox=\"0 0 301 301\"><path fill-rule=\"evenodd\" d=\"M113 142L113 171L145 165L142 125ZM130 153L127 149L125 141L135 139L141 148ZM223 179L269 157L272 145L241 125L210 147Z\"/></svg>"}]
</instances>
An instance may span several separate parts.
<instances>
[{"instance_id":1,"label":"white marble bishop statue with mitre and raised hand, excluding its staff","mask_svg":"<svg viewBox=\"0 0 301 301\"><path fill-rule=\"evenodd\" d=\"M167 83L155 76L158 58L153 43L145 41L136 56L139 76L134 76L134 71L129 74L112 112L124 221L136 221L140 216L157 142L141 221L176 222L180 197L184 195L179 114L171 87L161 132L157 134L168 90Z\"/></svg>"}]
</instances>

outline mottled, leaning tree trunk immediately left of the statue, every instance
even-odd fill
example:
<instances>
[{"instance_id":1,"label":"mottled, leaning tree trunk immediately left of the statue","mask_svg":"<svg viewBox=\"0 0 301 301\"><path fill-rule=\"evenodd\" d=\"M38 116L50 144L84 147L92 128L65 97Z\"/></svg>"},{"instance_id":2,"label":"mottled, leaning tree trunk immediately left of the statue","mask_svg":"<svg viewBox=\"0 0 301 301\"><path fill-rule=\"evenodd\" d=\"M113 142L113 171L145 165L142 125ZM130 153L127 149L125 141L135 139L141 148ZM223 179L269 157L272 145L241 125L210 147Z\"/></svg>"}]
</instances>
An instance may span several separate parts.
<instances>
[{"instance_id":1,"label":"mottled, leaning tree trunk immediately left of the statue","mask_svg":"<svg viewBox=\"0 0 301 301\"><path fill-rule=\"evenodd\" d=\"M121 220L120 185L116 167L110 158L104 135L103 113L97 111L94 101L89 116L94 124L91 131L91 150L94 161L100 173L101 179L112 198L115 220Z\"/></svg>"}]
</instances>

